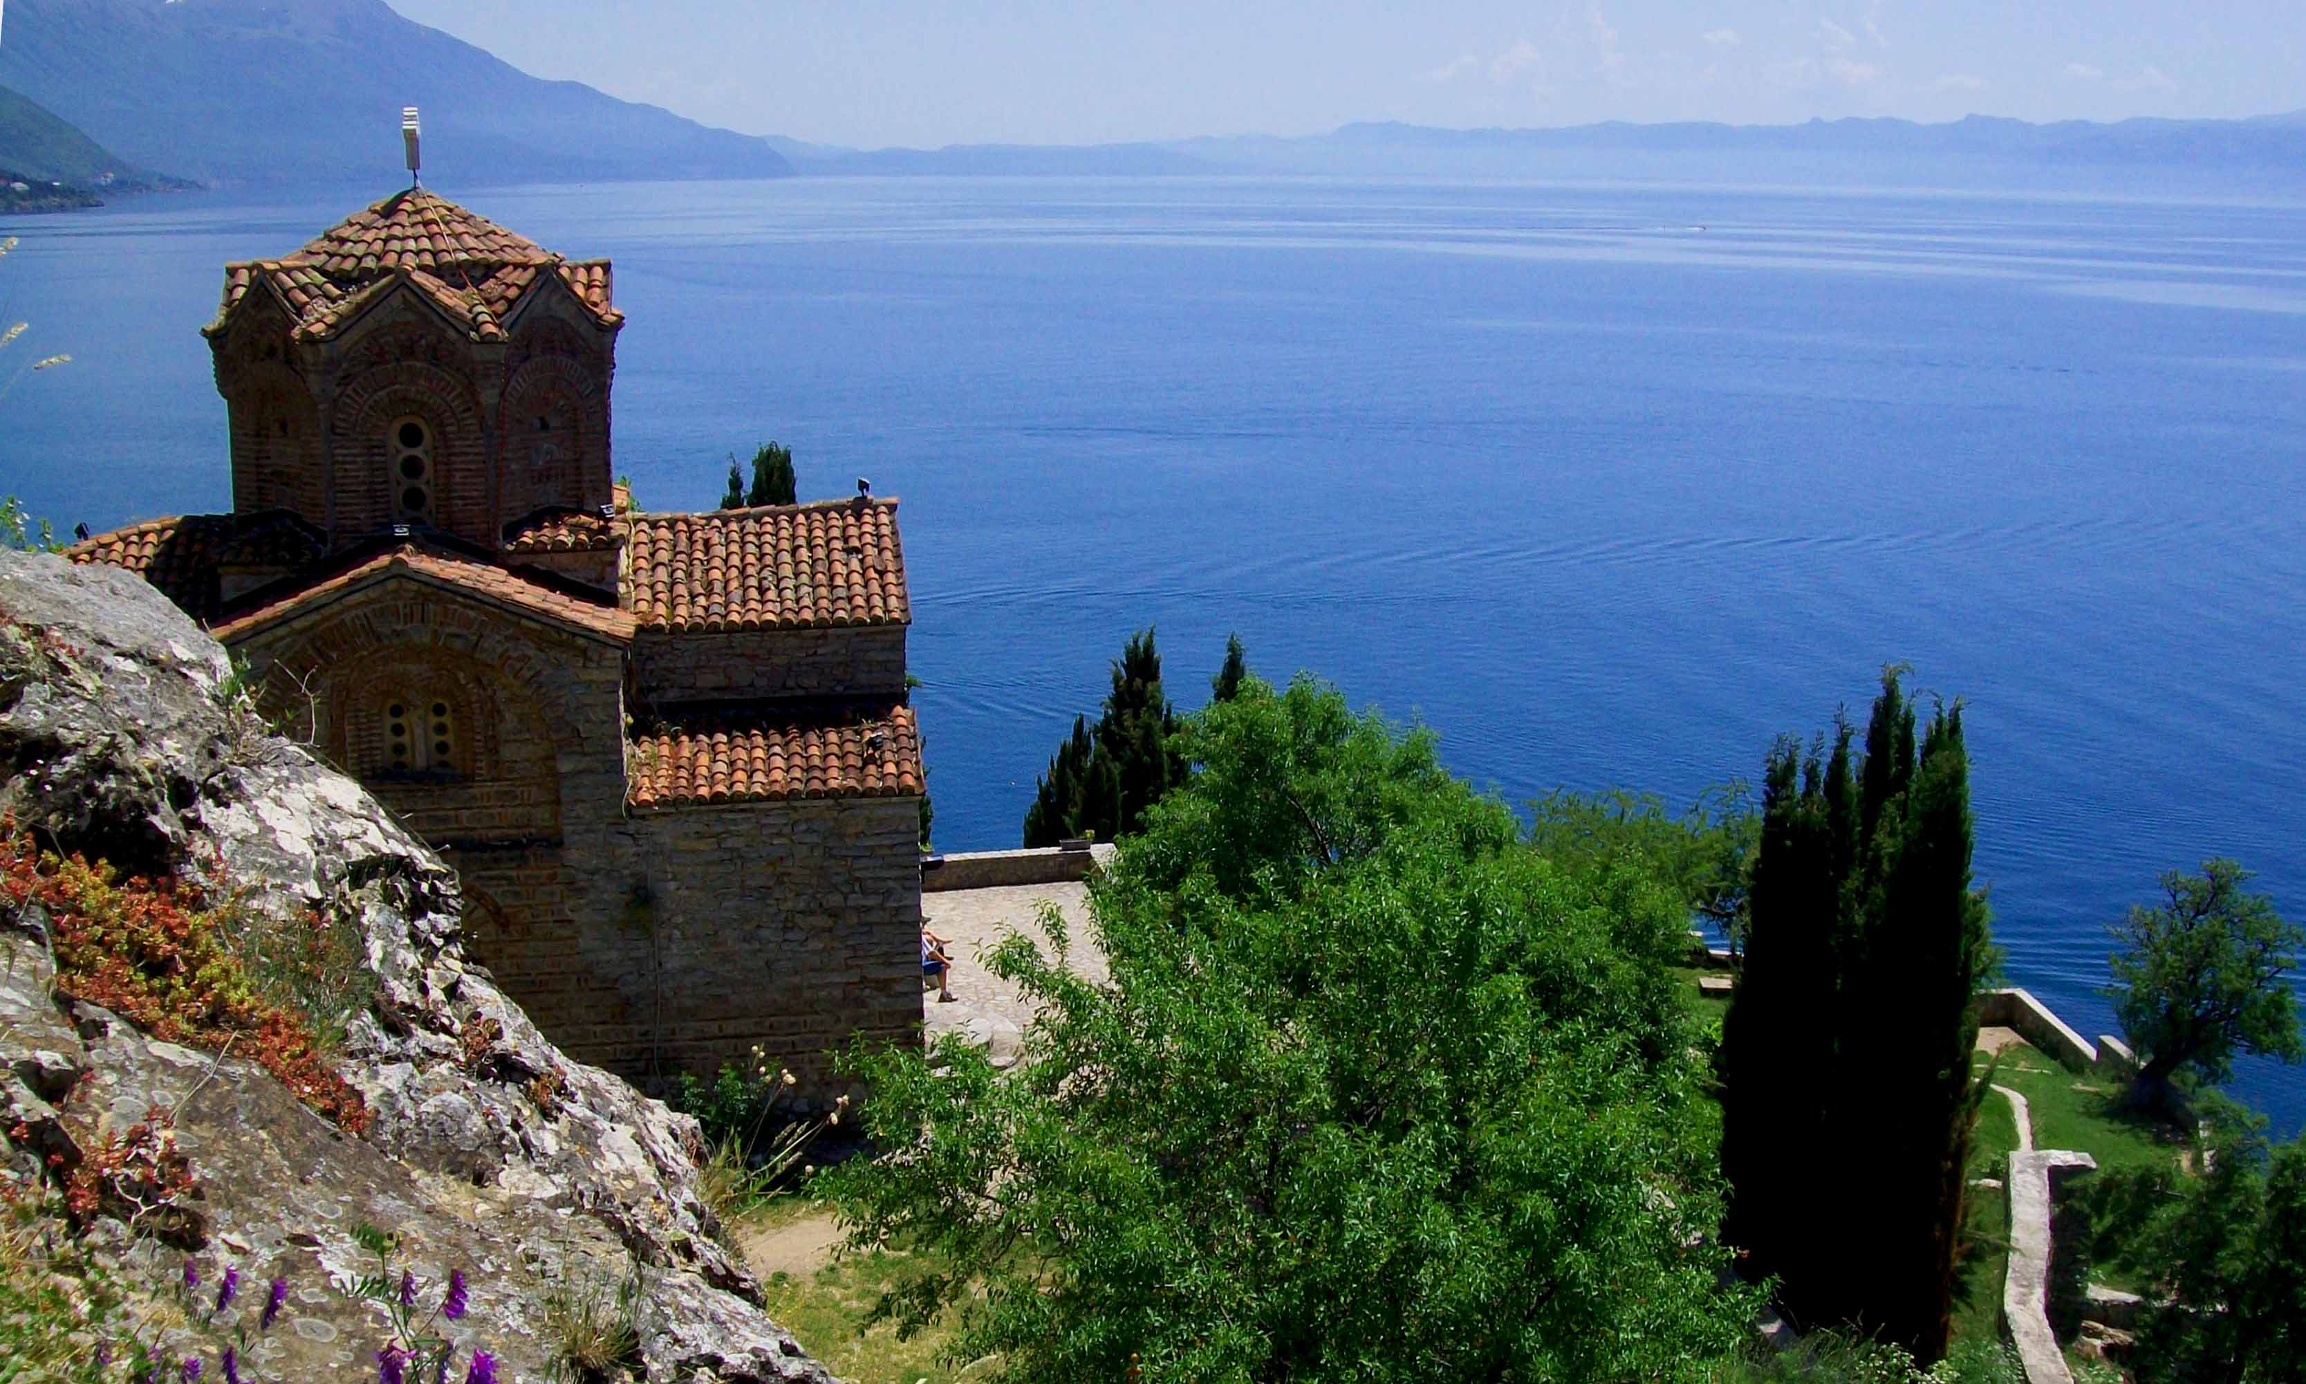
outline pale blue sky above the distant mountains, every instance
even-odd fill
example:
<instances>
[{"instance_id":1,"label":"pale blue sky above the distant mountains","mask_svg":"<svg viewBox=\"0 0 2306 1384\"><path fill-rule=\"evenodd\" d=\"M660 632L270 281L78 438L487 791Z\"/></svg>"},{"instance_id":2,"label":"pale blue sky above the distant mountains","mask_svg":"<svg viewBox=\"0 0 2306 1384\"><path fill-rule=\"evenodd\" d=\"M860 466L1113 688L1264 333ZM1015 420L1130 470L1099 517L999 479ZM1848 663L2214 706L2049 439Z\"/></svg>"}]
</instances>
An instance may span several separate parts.
<instances>
[{"instance_id":1,"label":"pale blue sky above the distant mountains","mask_svg":"<svg viewBox=\"0 0 2306 1384\"><path fill-rule=\"evenodd\" d=\"M390 2L537 76L844 145L2306 106L2301 0Z\"/></svg>"}]
</instances>

